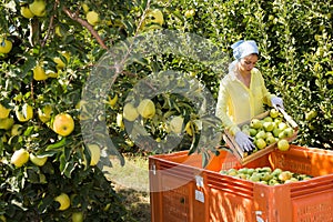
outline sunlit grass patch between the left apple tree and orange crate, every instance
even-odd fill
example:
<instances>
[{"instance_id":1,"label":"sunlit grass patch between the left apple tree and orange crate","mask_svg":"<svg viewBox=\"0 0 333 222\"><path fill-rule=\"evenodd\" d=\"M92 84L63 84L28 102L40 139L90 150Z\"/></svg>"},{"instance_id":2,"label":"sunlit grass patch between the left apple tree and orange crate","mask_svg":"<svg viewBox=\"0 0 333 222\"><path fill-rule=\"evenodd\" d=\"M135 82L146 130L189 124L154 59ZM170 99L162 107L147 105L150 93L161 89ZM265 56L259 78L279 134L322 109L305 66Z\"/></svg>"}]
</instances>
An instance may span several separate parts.
<instances>
[{"instance_id":1,"label":"sunlit grass patch between the left apple tree and orange crate","mask_svg":"<svg viewBox=\"0 0 333 222\"><path fill-rule=\"evenodd\" d=\"M149 167L147 157L125 157L120 165L112 159L112 168L104 168L105 178L113 182L114 190L124 199L124 205L138 222L150 222Z\"/></svg>"}]
</instances>

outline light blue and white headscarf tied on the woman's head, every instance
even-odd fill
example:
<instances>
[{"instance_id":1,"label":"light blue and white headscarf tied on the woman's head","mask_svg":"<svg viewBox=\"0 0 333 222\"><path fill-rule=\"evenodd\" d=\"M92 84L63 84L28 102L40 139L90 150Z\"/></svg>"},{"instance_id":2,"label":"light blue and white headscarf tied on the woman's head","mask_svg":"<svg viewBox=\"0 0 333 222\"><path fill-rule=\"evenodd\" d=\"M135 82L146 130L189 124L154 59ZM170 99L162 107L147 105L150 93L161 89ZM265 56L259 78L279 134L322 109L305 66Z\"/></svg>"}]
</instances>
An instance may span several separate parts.
<instances>
[{"instance_id":1,"label":"light blue and white headscarf tied on the woman's head","mask_svg":"<svg viewBox=\"0 0 333 222\"><path fill-rule=\"evenodd\" d=\"M240 40L233 43L231 48L233 49L233 57L235 60L229 65L229 73L232 73L234 71L235 64L240 59L252 53L259 54L258 46L253 40Z\"/></svg>"}]
</instances>

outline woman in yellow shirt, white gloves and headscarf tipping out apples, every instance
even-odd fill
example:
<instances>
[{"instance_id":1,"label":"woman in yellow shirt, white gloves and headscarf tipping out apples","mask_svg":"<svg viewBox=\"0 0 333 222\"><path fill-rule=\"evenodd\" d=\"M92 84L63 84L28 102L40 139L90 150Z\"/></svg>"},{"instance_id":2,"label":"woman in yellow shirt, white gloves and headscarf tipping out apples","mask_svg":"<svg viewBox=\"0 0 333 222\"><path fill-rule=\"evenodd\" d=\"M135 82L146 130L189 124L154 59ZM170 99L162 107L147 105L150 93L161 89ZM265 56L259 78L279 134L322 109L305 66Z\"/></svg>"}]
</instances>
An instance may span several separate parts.
<instances>
[{"instance_id":1,"label":"woman in yellow shirt, white gloves and headscarf tipping out apples","mask_svg":"<svg viewBox=\"0 0 333 222\"><path fill-rule=\"evenodd\" d=\"M252 139L238 124L264 112L264 104L283 108L283 101L268 91L261 72L255 68L259 59L255 41L240 40L231 48L235 60L221 80L216 117L235 137L240 148L251 151L254 149Z\"/></svg>"}]
</instances>

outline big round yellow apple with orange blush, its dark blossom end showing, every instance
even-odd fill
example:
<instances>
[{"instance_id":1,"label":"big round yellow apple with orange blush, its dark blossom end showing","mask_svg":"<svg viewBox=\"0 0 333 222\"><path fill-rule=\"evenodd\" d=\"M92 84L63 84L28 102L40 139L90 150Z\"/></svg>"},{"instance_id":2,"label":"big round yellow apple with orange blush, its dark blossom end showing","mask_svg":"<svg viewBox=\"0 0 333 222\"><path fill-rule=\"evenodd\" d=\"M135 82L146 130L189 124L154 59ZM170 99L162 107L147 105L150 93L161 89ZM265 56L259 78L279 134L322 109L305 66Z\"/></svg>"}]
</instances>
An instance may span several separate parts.
<instances>
[{"instance_id":1,"label":"big round yellow apple with orange blush, its dark blossom end showing","mask_svg":"<svg viewBox=\"0 0 333 222\"><path fill-rule=\"evenodd\" d=\"M54 118L52 129L59 135L67 137L74 130L74 120L68 113L59 113Z\"/></svg>"}]
</instances>

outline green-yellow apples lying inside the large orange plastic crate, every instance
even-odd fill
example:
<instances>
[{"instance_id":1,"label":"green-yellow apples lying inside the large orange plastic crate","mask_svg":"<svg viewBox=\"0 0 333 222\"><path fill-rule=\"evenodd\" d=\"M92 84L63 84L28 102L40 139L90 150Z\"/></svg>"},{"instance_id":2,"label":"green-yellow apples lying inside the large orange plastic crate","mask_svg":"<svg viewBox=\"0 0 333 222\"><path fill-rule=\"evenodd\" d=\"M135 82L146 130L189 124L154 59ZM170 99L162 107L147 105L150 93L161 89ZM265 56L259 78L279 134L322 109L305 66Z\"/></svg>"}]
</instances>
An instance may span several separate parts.
<instances>
[{"instance_id":1,"label":"green-yellow apples lying inside the large orange plastic crate","mask_svg":"<svg viewBox=\"0 0 333 222\"><path fill-rule=\"evenodd\" d=\"M241 168L236 169L229 169L229 170L221 170L221 174L223 175L231 175L234 178L249 180L252 182L259 182L266 185L278 185L278 184L285 184L290 182L297 182L309 180L312 176L302 173L295 173L286 170L282 170L276 168L272 170L270 167L263 168Z\"/></svg>"}]
</instances>

